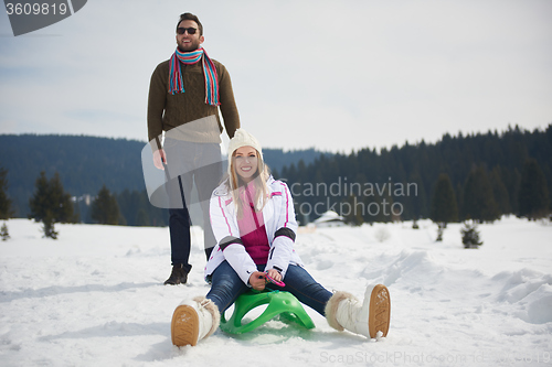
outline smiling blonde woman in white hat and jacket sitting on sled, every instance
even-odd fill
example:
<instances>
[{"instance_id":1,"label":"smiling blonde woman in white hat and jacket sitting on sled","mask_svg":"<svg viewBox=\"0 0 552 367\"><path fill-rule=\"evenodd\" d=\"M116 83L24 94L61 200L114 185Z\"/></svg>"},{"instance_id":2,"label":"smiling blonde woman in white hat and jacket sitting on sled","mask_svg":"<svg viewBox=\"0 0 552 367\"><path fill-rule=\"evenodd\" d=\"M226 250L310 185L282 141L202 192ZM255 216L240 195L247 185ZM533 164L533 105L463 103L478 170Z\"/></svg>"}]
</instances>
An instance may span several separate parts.
<instances>
[{"instance_id":1,"label":"smiling blonde woman in white hat and jacket sitting on sled","mask_svg":"<svg viewBox=\"0 0 552 367\"><path fill-rule=\"evenodd\" d=\"M305 270L294 250L297 222L291 195L284 182L269 175L262 153L253 136L236 130L229 144L227 179L213 192L210 204L217 241L205 267L211 290L174 310L172 343L195 345L214 333L221 313L252 288L288 291L336 330L385 336L391 303L384 285L367 288L361 303L347 292L332 294ZM286 285L268 283L267 277Z\"/></svg>"}]
</instances>

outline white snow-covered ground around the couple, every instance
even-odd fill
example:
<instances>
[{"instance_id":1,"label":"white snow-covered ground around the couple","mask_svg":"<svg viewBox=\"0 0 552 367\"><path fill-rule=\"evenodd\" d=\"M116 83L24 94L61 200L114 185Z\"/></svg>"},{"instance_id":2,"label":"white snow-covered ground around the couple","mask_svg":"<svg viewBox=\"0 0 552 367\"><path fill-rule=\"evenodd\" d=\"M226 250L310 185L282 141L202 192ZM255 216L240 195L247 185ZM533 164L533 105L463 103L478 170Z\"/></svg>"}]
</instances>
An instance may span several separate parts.
<instances>
[{"instance_id":1,"label":"white snow-covered ground around the couple","mask_svg":"<svg viewBox=\"0 0 552 367\"><path fill-rule=\"evenodd\" d=\"M464 249L460 225L444 242L422 222L319 228L296 250L329 290L362 296L389 287L391 330L379 342L270 321L241 336L220 330L197 347L170 339L174 307L205 294L201 229L185 285L170 273L167 228L8 222L0 241L1 366L526 366L552 365L552 226L513 217L479 227ZM388 235L388 236L383 236ZM389 237L384 241L379 238Z\"/></svg>"}]
</instances>

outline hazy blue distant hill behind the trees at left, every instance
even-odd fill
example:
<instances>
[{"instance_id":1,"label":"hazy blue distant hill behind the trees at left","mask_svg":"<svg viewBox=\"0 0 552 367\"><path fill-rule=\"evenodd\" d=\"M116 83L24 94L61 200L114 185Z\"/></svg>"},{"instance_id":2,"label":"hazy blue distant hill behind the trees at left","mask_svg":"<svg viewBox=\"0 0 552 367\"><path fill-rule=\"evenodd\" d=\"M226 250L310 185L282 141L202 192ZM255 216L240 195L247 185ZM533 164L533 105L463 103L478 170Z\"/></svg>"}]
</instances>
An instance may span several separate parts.
<instances>
[{"instance_id":1,"label":"hazy blue distant hill behind the trees at left","mask_svg":"<svg viewBox=\"0 0 552 367\"><path fill-rule=\"evenodd\" d=\"M85 136L0 134L0 166L8 170L8 195L17 217L25 217L34 182L41 171L60 174L72 196L96 195L102 185L112 193L146 190L141 169L145 142ZM314 150L284 152L263 150L273 170L321 153ZM85 219L85 218L83 218Z\"/></svg>"}]
</instances>

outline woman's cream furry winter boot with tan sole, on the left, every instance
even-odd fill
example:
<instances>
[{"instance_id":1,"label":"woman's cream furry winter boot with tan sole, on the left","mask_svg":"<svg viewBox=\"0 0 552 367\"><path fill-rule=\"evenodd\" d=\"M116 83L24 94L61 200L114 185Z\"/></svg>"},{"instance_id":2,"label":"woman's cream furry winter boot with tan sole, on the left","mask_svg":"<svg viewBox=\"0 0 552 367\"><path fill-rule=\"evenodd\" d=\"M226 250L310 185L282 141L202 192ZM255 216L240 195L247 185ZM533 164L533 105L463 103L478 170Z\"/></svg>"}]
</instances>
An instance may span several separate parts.
<instances>
[{"instance_id":1,"label":"woman's cream furry winter boot with tan sole, on the left","mask_svg":"<svg viewBox=\"0 0 552 367\"><path fill-rule=\"evenodd\" d=\"M176 346L195 345L219 327L219 307L204 296L182 302L172 314L171 338Z\"/></svg>"}]
</instances>

